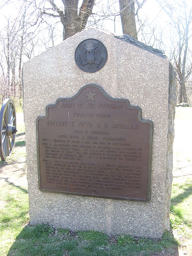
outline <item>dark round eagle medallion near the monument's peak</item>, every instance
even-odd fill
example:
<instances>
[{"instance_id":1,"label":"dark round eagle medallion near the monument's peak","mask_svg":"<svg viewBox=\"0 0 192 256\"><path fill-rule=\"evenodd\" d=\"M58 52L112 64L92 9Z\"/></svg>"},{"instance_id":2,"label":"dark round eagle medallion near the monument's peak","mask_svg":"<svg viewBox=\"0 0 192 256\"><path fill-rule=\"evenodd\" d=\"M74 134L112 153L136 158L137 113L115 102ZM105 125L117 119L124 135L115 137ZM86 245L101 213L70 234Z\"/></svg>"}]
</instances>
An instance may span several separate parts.
<instances>
[{"instance_id":1,"label":"dark round eagle medallion near the monument's peak","mask_svg":"<svg viewBox=\"0 0 192 256\"><path fill-rule=\"evenodd\" d=\"M96 39L86 39L82 41L75 52L77 66L85 72L96 72L106 63L108 52L105 46Z\"/></svg>"}]
</instances>

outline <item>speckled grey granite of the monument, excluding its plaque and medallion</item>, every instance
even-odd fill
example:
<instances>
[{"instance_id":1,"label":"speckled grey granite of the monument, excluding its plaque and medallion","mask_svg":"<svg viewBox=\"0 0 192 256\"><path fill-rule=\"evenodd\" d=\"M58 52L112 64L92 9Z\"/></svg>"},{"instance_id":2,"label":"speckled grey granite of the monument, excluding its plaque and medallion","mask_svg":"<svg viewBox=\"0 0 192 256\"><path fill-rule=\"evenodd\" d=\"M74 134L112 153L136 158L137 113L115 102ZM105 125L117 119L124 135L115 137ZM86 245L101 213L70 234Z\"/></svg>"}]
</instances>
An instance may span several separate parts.
<instances>
[{"instance_id":1,"label":"speckled grey granite of the monument, excluding its plaque and medallion","mask_svg":"<svg viewBox=\"0 0 192 256\"><path fill-rule=\"evenodd\" d=\"M74 54L88 38L108 51L105 66L96 73L77 67ZM170 75L169 75L170 74ZM151 200L121 201L41 192L38 189L36 118L58 98L74 96L89 83L100 85L114 98L140 106L142 118L154 124ZM159 54L96 29L87 29L23 65L27 178L30 223L47 223L70 230L99 230L108 234L159 238L169 229L172 183L175 85L169 61Z\"/></svg>"}]
</instances>

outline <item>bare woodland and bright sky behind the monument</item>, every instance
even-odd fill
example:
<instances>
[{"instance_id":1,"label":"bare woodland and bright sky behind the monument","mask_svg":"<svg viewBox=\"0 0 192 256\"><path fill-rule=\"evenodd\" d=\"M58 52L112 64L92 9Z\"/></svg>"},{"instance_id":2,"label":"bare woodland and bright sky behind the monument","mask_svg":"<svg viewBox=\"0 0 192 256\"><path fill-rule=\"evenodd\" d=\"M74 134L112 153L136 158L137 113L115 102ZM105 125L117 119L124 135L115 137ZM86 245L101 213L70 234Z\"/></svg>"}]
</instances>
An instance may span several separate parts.
<instances>
[{"instance_id":1,"label":"bare woodland and bright sky behind the monument","mask_svg":"<svg viewBox=\"0 0 192 256\"><path fill-rule=\"evenodd\" d=\"M0 18L0 103L12 97L22 107L23 62L90 26L165 52L177 103L192 103L190 0L3 0Z\"/></svg>"}]
</instances>

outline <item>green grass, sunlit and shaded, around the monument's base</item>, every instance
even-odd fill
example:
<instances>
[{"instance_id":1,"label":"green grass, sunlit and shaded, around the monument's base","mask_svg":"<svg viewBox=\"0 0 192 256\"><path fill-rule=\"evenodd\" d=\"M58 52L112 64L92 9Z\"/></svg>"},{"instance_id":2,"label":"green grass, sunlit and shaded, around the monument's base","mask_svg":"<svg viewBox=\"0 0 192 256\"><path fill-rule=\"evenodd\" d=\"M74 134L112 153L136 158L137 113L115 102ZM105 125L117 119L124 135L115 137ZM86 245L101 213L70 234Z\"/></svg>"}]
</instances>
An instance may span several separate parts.
<instances>
[{"instance_id":1,"label":"green grass, sunlit and shaded, around the monument's base","mask_svg":"<svg viewBox=\"0 0 192 256\"><path fill-rule=\"evenodd\" d=\"M7 164L26 154L25 141L20 140L24 134L22 127L21 124L15 151ZM189 160L192 161L191 156ZM192 238L191 205L192 179L182 179L172 184L171 231L166 231L161 239L126 234L108 236L93 230L70 232L48 223L30 226L27 188L6 183L0 187L0 256L147 256L160 252L169 255Z\"/></svg>"}]
</instances>

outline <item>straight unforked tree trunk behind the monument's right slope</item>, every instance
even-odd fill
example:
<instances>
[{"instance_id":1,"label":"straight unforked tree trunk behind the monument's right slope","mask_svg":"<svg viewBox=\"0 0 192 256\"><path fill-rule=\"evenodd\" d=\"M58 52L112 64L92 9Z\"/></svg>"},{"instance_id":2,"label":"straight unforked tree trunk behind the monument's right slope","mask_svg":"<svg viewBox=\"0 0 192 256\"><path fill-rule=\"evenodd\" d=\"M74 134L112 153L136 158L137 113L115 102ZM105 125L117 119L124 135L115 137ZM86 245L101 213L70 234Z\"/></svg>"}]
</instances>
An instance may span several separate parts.
<instances>
[{"instance_id":1,"label":"straight unforked tree trunk behind the monument's right slope","mask_svg":"<svg viewBox=\"0 0 192 256\"><path fill-rule=\"evenodd\" d=\"M119 9L123 34L137 39L134 0L119 0Z\"/></svg>"}]
</instances>

